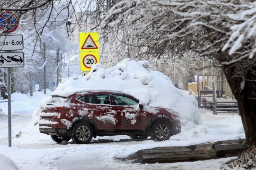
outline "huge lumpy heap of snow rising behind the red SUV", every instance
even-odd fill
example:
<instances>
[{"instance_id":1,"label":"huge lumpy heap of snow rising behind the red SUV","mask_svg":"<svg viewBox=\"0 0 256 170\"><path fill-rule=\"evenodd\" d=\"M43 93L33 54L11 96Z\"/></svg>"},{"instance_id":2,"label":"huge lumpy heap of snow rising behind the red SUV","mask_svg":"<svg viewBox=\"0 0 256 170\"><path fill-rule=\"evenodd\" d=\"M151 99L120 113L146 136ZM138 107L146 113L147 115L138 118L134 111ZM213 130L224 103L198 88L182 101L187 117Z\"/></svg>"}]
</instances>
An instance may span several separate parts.
<instances>
[{"instance_id":1,"label":"huge lumpy heap of snow rising behind the red SUV","mask_svg":"<svg viewBox=\"0 0 256 170\"><path fill-rule=\"evenodd\" d=\"M196 98L177 89L166 75L144 68L142 62L125 59L109 69L100 64L92 66L85 77L63 79L51 96L68 97L74 93L95 91L123 91L150 106L169 108L179 113L181 120L201 124Z\"/></svg>"}]
</instances>

